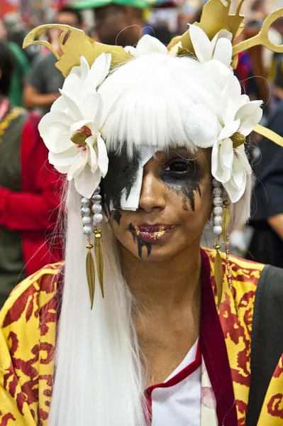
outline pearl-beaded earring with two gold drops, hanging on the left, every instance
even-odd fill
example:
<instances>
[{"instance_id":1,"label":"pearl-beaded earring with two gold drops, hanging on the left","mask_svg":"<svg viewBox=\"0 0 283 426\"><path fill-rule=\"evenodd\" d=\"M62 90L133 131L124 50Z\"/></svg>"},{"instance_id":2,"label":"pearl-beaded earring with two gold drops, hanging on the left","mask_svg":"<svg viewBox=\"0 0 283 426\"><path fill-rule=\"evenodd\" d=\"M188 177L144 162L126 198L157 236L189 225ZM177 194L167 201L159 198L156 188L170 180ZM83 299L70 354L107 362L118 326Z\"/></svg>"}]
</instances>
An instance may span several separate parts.
<instances>
[{"instance_id":1,"label":"pearl-beaded earring with two gold drops, hanging on the left","mask_svg":"<svg viewBox=\"0 0 283 426\"><path fill-rule=\"evenodd\" d=\"M89 198L82 198L82 224L83 233L87 236L87 258L86 258L86 273L87 273L87 284L89 286L89 299L91 304L91 310L94 305L94 290L95 290L95 267L94 257L92 256L91 250L94 248L96 256L97 275L99 277L99 284L101 288L102 297L104 297L104 286L103 286L103 270L104 262L101 249L101 229L100 224L103 220L101 214L101 195L99 195L100 187L97 187L94 195ZM91 202L93 203L91 207ZM91 207L91 208L90 208ZM91 217L91 210L94 213ZM91 235L94 233L94 245L91 244Z\"/></svg>"}]
</instances>

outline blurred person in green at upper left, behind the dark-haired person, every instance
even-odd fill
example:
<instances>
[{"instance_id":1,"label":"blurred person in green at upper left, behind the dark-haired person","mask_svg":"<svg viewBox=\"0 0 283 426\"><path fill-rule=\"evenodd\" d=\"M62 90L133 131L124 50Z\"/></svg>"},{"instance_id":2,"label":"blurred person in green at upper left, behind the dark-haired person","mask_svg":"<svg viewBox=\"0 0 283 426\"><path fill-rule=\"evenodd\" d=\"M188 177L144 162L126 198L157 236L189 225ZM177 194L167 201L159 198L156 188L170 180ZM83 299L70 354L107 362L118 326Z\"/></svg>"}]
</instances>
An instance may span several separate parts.
<instances>
[{"instance_id":1,"label":"blurred person in green at upper left, behind the dark-haired person","mask_svg":"<svg viewBox=\"0 0 283 426\"><path fill-rule=\"evenodd\" d=\"M8 39L8 32L4 21L0 18L0 41L8 45L9 50L13 54L13 75L11 78L11 86L9 90L10 102L21 107L23 104L23 84L24 79L28 75L30 65L23 49L16 43Z\"/></svg>"}]
</instances>

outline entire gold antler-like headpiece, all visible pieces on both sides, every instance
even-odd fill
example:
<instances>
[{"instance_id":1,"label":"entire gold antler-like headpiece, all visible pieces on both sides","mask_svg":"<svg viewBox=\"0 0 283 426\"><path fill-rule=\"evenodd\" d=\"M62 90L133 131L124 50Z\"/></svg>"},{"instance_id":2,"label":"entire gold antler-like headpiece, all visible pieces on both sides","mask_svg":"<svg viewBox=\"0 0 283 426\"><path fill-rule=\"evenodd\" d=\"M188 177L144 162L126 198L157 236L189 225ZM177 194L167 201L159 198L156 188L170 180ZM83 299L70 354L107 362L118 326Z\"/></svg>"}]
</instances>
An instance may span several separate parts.
<instances>
[{"instance_id":1,"label":"entire gold antler-like headpiece, all visible pieces on both sides","mask_svg":"<svg viewBox=\"0 0 283 426\"><path fill-rule=\"evenodd\" d=\"M232 39L234 40L244 28L244 16L240 15L243 1L244 0L240 0L235 14L230 14L231 0L228 0L227 4L223 4L221 0L209 0L203 8L200 22L194 23L194 25L199 26L210 40L223 29L232 33ZM267 16L258 35L238 45L234 45L234 57L240 52L243 52L243 50L252 48L255 45L263 45L273 52L283 53L283 45L274 45L268 38L270 26L280 17L283 17L283 8L277 9ZM60 53L58 53L48 41L40 40L40 37L50 28L57 28L62 31L59 40ZM66 39L67 35L69 36ZM45 45L55 55L58 60L56 67L65 77L69 75L72 67L80 64L81 56L84 56L89 66L91 66L101 53L111 53L111 67L121 65L133 58L130 53L126 53L126 50L120 46L97 43L92 38L85 35L84 31L65 25L51 24L35 28L26 36L23 47L26 48L29 45L38 43ZM172 55L194 55L194 48L189 31L186 31L179 37L173 38L167 48ZM269 129L265 129L265 127L257 124L257 126L255 126L255 131L270 138L280 146L283 146L283 138Z\"/></svg>"}]
</instances>

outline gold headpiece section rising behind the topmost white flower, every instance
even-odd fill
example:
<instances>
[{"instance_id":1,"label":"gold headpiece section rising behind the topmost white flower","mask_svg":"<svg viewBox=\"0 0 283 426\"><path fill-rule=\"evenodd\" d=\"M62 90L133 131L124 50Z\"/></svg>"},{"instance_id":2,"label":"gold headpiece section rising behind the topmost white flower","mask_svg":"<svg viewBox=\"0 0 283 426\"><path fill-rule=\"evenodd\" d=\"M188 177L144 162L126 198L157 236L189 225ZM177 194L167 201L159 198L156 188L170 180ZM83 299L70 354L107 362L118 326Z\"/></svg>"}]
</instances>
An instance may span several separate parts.
<instances>
[{"instance_id":1,"label":"gold headpiece section rising behind the topmost white flower","mask_svg":"<svg viewBox=\"0 0 283 426\"><path fill-rule=\"evenodd\" d=\"M202 9L201 21L194 23L199 26L212 40L221 30L227 30L233 34L233 39L238 35L239 30L243 29L244 15L240 15L240 9L244 0L240 0L235 15L230 15L231 0L227 4L223 4L221 0L209 0ZM168 45L168 50L172 55L188 55L194 53L189 31L186 31L179 37L174 37Z\"/></svg>"}]
</instances>

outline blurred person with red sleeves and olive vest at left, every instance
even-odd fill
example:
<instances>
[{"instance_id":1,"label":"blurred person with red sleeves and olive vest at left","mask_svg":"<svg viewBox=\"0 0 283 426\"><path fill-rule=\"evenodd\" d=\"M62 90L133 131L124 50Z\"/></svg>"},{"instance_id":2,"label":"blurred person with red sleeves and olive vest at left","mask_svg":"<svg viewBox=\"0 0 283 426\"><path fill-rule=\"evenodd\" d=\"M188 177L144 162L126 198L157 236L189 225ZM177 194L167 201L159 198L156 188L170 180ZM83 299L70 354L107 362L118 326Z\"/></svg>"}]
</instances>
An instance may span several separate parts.
<instances>
[{"instance_id":1,"label":"blurred person with red sleeves and olive vest at left","mask_svg":"<svg viewBox=\"0 0 283 426\"><path fill-rule=\"evenodd\" d=\"M38 133L40 116L9 102L13 62L0 42L0 307L24 277L62 258L60 244L48 244L58 175Z\"/></svg>"}]
</instances>

